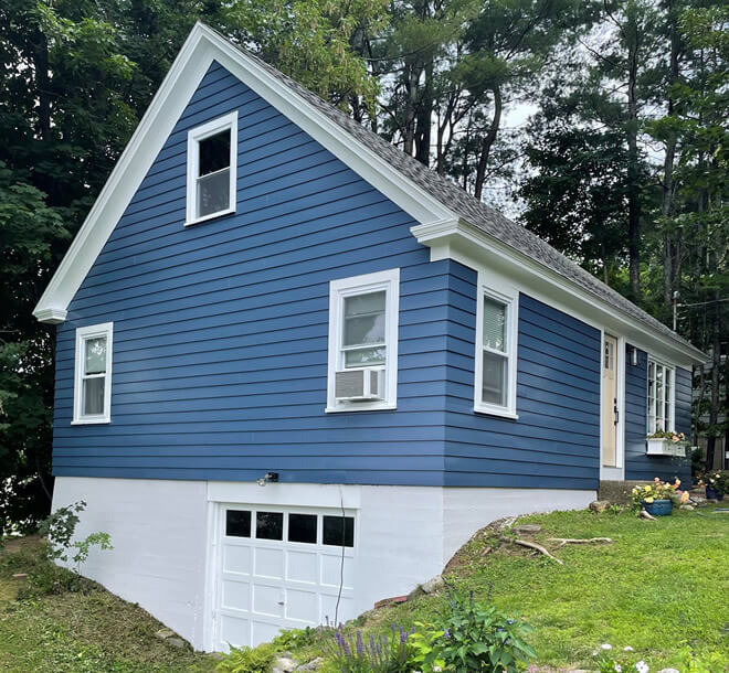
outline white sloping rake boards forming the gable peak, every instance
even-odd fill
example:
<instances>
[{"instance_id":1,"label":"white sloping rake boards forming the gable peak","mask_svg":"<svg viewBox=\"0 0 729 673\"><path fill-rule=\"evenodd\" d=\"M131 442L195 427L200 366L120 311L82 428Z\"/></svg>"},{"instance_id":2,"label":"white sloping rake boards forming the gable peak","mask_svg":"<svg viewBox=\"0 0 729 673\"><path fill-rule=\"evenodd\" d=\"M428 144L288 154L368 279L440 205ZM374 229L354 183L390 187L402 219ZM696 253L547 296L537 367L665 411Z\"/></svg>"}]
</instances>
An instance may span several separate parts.
<instances>
[{"instance_id":1,"label":"white sloping rake boards forming the gable peak","mask_svg":"<svg viewBox=\"0 0 729 673\"><path fill-rule=\"evenodd\" d=\"M415 221L433 223L455 217L436 199L408 180L258 63L207 25L197 23L33 310L38 320L63 322L74 295L213 61L218 61Z\"/></svg>"}]
</instances>

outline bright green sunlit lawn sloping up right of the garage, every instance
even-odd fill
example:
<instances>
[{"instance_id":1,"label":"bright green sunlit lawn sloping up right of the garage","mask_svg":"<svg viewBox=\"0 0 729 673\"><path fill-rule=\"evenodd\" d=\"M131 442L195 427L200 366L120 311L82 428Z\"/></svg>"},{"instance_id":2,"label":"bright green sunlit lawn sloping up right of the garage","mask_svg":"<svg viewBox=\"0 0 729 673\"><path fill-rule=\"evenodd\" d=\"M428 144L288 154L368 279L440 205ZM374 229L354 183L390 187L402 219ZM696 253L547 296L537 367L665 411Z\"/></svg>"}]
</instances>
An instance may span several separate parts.
<instances>
[{"instance_id":1,"label":"bright green sunlit lawn sloping up right of the garage","mask_svg":"<svg viewBox=\"0 0 729 673\"><path fill-rule=\"evenodd\" d=\"M521 517L519 523L542 526L531 540L563 566L513 545L484 555L497 546L486 530L459 552L446 579L533 626L539 665L594 669L592 652L610 643L615 650L634 648L652 671L670 665L685 671L686 648L695 656L729 652L729 515L711 512L674 512L655 522L630 512ZM611 537L614 544L556 549L549 537ZM445 600L420 596L370 613L360 628L366 639L391 623L410 628L433 619ZM729 671L729 658L720 670Z\"/></svg>"}]
</instances>

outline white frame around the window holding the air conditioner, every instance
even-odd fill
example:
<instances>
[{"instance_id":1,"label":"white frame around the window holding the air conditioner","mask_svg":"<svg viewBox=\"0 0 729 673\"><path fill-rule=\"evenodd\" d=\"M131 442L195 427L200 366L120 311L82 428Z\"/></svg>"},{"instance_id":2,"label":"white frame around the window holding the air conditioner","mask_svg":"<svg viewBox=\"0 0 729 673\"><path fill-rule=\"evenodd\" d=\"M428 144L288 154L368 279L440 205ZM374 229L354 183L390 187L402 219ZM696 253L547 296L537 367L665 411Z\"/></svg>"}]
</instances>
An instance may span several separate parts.
<instances>
[{"instance_id":1,"label":"white frame around the window holding the air conditioner","mask_svg":"<svg viewBox=\"0 0 729 673\"><path fill-rule=\"evenodd\" d=\"M344 370L341 341L345 298L384 290L384 399L374 402L338 400L335 377ZM329 282L329 362L327 375L327 413L394 409L398 405L398 322L400 310L400 269L388 269ZM367 368L349 367L347 371Z\"/></svg>"}]
</instances>

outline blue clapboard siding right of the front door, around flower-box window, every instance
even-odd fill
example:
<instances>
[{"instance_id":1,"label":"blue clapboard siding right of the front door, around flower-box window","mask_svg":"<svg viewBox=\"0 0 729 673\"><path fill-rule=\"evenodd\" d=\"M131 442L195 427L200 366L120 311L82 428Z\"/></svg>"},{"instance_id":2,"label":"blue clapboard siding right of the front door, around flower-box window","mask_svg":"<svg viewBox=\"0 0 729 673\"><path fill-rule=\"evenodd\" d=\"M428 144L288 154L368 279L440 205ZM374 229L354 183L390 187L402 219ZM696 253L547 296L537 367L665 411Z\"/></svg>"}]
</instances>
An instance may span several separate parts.
<instances>
[{"instance_id":1,"label":"blue clapboard siding right of the front door, around flower-box window","mask_svg":"<svg viewBox=\"0 0 729 673\"><path fill-rule=\"evenodd\" d=\"M625 354L625 479L651 481L674 480L684 484L691 479L690 459L670 456L646 456L646 428L648 404L648 355L638 350L637 365L631 364L631 350ZM676 367L676 430L686 437L691 435L691 373Z\"/></svg>"}]
</instances>

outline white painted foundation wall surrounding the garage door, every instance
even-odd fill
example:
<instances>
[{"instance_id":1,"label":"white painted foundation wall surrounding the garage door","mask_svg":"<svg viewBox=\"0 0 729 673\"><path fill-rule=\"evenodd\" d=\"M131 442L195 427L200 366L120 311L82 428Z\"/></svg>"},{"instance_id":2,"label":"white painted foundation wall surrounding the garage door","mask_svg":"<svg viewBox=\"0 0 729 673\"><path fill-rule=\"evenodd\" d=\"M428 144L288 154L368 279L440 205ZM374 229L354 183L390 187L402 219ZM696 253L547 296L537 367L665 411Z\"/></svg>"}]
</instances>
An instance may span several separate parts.
<instances>
[{"instance_id":1,"label":"white painted foundation wall surrounding the garage door","mask_svg":"<svg viewBox=\"0 0 729 673\"><path fill-rule=\"evenodd\" d=\"M82 573L213 649L218 503L353 512L353 617L437 575L478 528L503 516L585 508L594 491L368 487L59 477L53 509L87 503L77 535L103 531Z\"/></svg>"}]
</instances>

